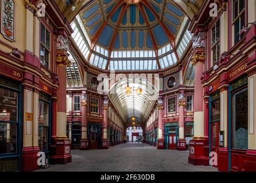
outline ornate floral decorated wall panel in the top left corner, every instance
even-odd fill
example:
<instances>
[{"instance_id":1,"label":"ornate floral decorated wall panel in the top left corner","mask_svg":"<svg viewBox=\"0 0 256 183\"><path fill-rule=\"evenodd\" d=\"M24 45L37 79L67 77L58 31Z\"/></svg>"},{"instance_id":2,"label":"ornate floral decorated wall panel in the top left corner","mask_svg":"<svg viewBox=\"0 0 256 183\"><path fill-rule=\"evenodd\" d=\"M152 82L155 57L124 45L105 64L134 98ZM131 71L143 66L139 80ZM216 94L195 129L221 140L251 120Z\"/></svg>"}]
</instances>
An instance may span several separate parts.
<instances>
[{"instance_id":1,"label":"ornate floral decorated wall panel in the top left corner","mask_svg":"<svg viewBox=\"0 0 256 183\"><path fill-rule=\"evenodd\" d=\"M14 0L1 1L1 34L4 38L13 42L15 40L14 34L14 14L15 2Z\"/></svg>"}]
</instances>

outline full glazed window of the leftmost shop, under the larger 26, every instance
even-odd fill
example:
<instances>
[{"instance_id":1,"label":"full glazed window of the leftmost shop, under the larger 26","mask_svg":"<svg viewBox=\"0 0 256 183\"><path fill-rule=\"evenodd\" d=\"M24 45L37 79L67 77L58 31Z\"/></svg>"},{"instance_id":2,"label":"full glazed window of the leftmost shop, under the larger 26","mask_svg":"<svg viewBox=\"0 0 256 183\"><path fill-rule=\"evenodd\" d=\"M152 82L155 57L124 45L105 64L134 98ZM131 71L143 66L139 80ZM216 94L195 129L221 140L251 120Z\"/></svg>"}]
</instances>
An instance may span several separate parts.
<instances>
[{"instance_id":1,"label":"full glazed window of the leftmost shop, under the larger 26","mask_svg":"<svg viewBox=\"0 0 256 183\"><path fill-rule=\"evenodd\" d=\"M0 155L17 153L18 93L0 88Z\"/></svg>"}]
</instances>

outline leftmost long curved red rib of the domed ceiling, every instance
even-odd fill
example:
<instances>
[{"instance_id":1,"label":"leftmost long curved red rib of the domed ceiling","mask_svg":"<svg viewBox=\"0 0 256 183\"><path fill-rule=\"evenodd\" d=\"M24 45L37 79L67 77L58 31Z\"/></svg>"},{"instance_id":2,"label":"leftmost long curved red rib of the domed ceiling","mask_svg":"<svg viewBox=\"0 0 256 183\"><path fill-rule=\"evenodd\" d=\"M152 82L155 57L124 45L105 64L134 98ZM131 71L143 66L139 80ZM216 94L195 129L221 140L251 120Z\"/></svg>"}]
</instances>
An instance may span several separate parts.
<instances>
[{"instance_id":1,"label":"leftmost long curved red rib of the domed ceiling","mask_svg":"<svg viewBox=\"0 0 256 183\"><path fill-rule=\"evenodd\" d=\"M107 22L109 21L109 19L114 15L115 11L117 11L117 9L123 4L125 3L125 1L123 0L119 0L117 2L117 4L115 4L115 6L113 7L113 9L110 11L110 13L107 15L107 19L106 21L104 21L102 23L102 25L99 27L99 29L96 31L94 37L92 37L91 39L91 51L90 54L88 55L88 61L90 61L91 55L92 55L92 50L94 50L94 47L96 46L96 43L98 42L99 36L102 33L104 27L107 25Z\"/></svg>"}]
</instances>

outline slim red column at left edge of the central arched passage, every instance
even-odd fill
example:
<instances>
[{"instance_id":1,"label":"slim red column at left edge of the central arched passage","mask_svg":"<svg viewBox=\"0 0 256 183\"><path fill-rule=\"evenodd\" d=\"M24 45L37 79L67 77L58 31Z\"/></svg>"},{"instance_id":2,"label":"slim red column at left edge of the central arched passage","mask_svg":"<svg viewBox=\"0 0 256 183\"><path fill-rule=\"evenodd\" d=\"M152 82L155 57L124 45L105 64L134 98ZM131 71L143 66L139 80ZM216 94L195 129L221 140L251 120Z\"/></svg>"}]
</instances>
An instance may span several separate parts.
<instances>
[{"instance_id":1,"label":"slim red column at left edge of the central arched passage","mask_svg":"<svg viewBox=\"0 0 256 183\"><path fill-rule=\"evenodd\" d=\"M103 98L103 137L102 137L102 149L108 149L109 141L107 138L107 110L108 110L108 97Z\"/></svg>"}]
</instances>

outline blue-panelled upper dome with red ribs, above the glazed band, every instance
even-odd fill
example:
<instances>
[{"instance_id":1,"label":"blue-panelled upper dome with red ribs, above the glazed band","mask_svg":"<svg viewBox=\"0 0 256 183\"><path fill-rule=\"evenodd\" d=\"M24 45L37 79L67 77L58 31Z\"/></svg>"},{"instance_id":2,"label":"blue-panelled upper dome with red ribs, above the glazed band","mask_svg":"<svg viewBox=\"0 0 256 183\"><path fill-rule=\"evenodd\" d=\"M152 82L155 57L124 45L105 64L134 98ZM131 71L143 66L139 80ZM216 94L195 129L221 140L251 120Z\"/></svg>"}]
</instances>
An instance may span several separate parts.
<instances>
[{"instance_id":1,"label":"blue-panelled upper dome with red ribs, above the glazed band","mask_svg":"<svg viewBox=\"0 0 256 183\"><path fill-rule=\"evenodd\" d=\"M92 43L108 50L158 49L174 41L184 19L165 0L95 0L80 15Z\"/></svg>"}]
</instances>

